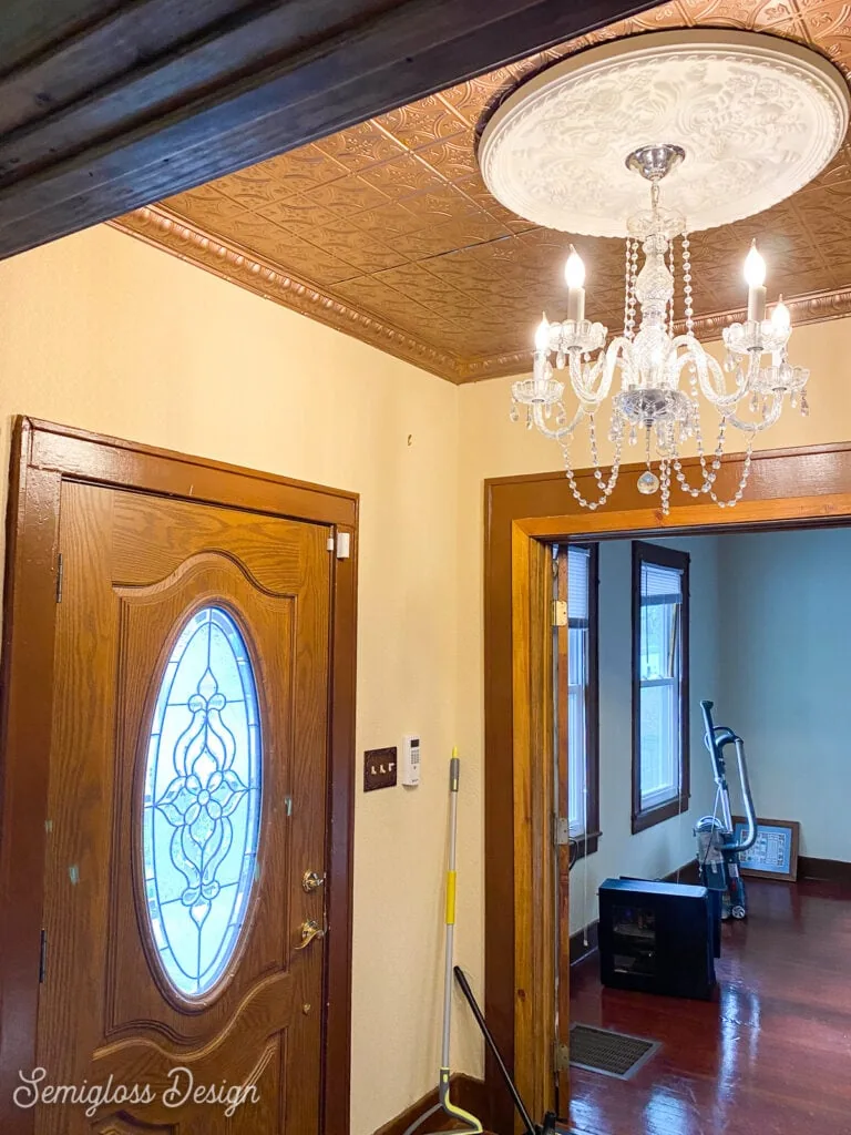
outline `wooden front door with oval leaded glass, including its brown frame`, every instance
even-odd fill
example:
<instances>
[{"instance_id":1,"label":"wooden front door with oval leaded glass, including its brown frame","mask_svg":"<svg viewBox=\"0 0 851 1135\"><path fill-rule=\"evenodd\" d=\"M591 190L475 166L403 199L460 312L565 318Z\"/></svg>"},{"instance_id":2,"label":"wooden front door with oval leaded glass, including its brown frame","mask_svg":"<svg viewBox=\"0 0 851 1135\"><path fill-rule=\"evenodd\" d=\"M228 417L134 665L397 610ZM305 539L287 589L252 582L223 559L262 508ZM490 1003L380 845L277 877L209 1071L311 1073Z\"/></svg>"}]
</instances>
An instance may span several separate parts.
<instances>
[{"instance_id":1,"label":"wooden front door with oval leaded glass, including its brown frame","mask_svg":"<svg viewBox=\"0 0 851 1135\"><path fill-rule=\"evenodd\" d=\"M15 456L3 1129L345 1130L356 498Z\"/></svg>"}]
</instances>

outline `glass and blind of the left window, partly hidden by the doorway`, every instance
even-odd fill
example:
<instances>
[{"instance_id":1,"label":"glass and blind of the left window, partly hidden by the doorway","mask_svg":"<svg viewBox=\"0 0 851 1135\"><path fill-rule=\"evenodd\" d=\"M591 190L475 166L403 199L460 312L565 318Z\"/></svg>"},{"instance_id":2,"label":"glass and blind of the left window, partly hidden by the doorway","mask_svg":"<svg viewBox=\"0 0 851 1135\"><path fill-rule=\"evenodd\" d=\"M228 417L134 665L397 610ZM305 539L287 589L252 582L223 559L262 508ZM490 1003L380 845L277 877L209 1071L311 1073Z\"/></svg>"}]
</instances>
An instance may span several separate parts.
<instances>
[{"instance_id":1,"label":"glass and blind of the left window, partly hidden by the doorway","mask_svg":"<svg viewBox=\"0 0 851 1135\"><path fill-rule=\"evenodd\" d=\"M582 835L588 818L588 548L567 549L567 777L571 835Z\"/></svg>"}]
</instances>

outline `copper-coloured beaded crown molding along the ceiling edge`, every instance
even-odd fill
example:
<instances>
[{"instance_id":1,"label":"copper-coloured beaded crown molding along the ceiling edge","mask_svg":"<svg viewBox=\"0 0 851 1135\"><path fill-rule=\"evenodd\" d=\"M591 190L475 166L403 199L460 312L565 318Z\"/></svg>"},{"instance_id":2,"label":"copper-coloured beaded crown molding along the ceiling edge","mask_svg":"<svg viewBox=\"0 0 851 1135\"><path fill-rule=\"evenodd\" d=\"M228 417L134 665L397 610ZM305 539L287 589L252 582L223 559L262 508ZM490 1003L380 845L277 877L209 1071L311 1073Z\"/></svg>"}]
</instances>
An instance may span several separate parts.
<instances>
[{"instance_id":1,"label":"copper-coloured beaded crown molding along the ceiling edge","mask_svg":"<svg viewBox=\"0 0 851 1135\"><path fill-rule=\"evenodd\" d=\"M110 221L110 225L222 279L238 284L264 300L317 319L449 382L461 385L504 378L529 369L528 350L500 352L485 358L465 358L440 351L430 343L415 339L391 325L340 303L295 276L281 272L247 250L225 243L199 226L187 224L162 205L136 209ZM787 306L797 326L844 319L851 316L851 286L799 296L790 300ZM694 333L703 342L719 339L723 327L744 319L745 314L742 309L698 318L694 320Z\"/></svg>"}]
</instances>

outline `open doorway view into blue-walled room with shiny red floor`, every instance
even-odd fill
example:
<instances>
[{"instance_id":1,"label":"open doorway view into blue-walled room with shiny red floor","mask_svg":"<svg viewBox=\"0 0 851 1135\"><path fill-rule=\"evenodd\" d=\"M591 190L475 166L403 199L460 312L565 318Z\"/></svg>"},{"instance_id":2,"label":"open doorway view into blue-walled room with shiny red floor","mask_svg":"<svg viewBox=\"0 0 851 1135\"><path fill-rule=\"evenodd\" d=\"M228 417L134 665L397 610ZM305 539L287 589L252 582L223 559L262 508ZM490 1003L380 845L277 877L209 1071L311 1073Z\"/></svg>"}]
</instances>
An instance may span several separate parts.
<instances>
[{"instance_id":1,"label":"open doorway view into blue-walled room with shiny red floor","mask_svg":"<svg viewBox=\"0 0 851 1135\"><path fill-rule=\"evenodd\" d=\"M598 619L587 602L595 579L582 572L584 548L562 552L575 592L565 812L581 858L571 893L562 893L572 914L559 974L570 985L565 1011L574 1049L589 1034L595 1042L639 1036L658 1048L624 1079L595 1071L593 1060L579 1067L574 1051L572 1127L664 1127L672 1135L717 1127L741 1135L757 1125L815 1124L844 1135L851 528L607 540L595 548ZM599 656L596 671L582 665L583 637ZM681 689L690 690L690 717L680 713ZM744 754L747 785L731 743L728 817L703 740L703 700ZM580 728L583 701L599 706L593 763L593 734ZM635 824L637 779L640 798L658 809L650 824ZM588 840L585 812L593 819L593 809L583 807L584 798L599 816L587 827ZM665 815L666 800L682 807ZM658 883L666 901L681 901L698 882L719 885L715 860L706 859L709 846L696 831L705 831L708 818L747 842L751 807L757 838L738 863L741 907L721 907L718 956L711 967L706 950L683 961L689 939L680 932L679 964L671 966L667 931L646 900L655 901ZM713 869L701 869L706 863ZM635 881L632 898L613 910L605 896L620 893L614 889L624 877ZM698 990L709 968L716 983Z\"/></svg>"}]
</instances>

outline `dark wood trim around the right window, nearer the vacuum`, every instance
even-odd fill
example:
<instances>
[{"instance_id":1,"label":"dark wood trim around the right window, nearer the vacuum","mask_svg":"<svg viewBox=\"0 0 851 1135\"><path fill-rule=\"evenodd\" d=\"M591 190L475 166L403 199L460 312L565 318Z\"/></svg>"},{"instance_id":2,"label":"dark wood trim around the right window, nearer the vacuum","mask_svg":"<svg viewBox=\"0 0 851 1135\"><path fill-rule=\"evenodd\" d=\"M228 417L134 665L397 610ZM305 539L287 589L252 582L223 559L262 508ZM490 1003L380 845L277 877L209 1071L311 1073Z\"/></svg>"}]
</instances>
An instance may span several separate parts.
<instances>
[{"instance_id":1,"label":"dark wood trim around the right window, nearer the vacuum","mask_svg":"<svg viewBox=\"0 0 851 1135\"><path fill-rule=\"evenodd\" d=\"M651 808L641 807L641 566L656 564L682 573L680 616L680 776L673 799ZM691 798L691 760L689 756L689 566L688 553L665 548L643 540L632 541L632 833L647 831L656 824L689 810Z\"/></svg>"}]
</instances>

